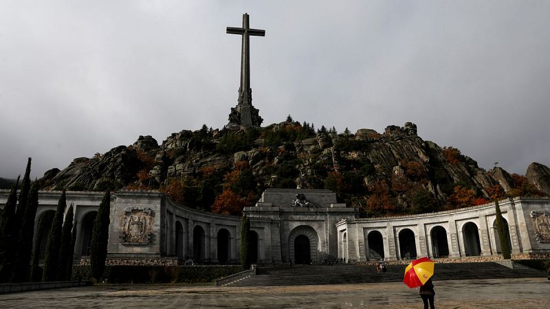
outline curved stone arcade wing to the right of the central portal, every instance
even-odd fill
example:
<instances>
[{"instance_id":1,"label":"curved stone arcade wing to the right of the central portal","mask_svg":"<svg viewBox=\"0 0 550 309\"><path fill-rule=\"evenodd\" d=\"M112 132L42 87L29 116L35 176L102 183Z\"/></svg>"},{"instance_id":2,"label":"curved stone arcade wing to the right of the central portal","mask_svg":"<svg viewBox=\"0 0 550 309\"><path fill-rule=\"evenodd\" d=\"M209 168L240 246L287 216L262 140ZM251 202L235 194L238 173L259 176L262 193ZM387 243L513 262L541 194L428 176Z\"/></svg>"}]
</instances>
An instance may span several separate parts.
<instances>
[{"instance_id":1,"label":"curved stone arcade wing to the right of the central portal","mask_svg":"<svg viewBox=\"0 0 550 309\"><path fill-rule=\"evenodd\" d=\"M550 200L499 202L512 256L550 256ZM350 261L500 254L494 203L432 214L338 222L338 256Z\"/></svg>"}]
</instances>

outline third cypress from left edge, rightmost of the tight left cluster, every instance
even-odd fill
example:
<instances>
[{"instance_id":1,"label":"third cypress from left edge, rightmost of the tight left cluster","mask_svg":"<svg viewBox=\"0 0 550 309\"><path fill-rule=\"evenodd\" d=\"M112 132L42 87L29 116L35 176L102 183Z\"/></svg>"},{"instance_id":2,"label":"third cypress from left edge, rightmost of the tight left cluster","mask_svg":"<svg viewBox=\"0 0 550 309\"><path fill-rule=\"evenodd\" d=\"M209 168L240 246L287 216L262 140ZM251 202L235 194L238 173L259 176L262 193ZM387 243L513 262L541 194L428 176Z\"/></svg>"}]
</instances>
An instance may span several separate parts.
<instances>
[{"instance_id":1,"label":"third cypress from left edge, rightmost of the tight left cluster","mask_svg":"<svg viewBox=\"0 0 550 309\"><path fill-rule=\"evenodd\" d=\"M21 201L21 200L20 200ZM12 282L28 282L30 277L30 260L32 255L32 237L34 236L34 217L39 206L39 185L34 181L30 187L28 204L25 207L25 214L21 221L19 231L19 242L14 260L14 271Z\"/></svg>"}]
</instances>

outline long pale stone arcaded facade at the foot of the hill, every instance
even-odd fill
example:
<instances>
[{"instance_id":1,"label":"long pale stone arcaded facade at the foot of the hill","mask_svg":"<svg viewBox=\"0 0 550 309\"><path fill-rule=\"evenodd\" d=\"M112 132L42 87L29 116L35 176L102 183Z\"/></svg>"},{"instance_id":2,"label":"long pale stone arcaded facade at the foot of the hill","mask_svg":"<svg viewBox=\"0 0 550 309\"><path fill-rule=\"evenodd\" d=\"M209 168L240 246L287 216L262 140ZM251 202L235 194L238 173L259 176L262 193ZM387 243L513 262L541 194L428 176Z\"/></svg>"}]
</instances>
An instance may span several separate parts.
<instances>
[{"instance_id":1,"label":"long pale stone arcaded facade at the foot of the hill","mask_svg":"<svg viewBox=\"0 0 550 309\"><path fill-rule=\"evenodd\" d=\"M0 190L5 205L8 190ZM39 220L55 211L61 192L40 192ZM93 219L102 192L67 192L73 204L78 235L75 258L88 255ZM516 258L550 256L550 199L500 201ZM390 218L356 218L328 190L268 189L250 217L257 262L388 261L428 256L449 260L498 259L494 204L432 214ZM120 191L111 194L108 257L110 264L238 263L240 216L210 214L177 205L159 192ZM36 241L36 240L35 240ZM43 242L45 238L38 240Z\"/></svg>"}]
</instances>

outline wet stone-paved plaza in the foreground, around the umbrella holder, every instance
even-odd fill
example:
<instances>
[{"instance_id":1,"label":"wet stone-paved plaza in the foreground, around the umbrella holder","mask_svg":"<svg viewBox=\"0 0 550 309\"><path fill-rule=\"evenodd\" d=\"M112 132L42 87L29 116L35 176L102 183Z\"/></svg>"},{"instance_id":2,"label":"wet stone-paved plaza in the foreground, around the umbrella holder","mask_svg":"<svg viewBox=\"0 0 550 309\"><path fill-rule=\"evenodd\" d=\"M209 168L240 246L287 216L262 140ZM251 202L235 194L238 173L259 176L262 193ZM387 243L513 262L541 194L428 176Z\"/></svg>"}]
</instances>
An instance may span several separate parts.
<instances>
[{"instance_id":1,"label":"wet stone-paved plaza in the foreground, around the umbrella holder","mask_svg":"<svg viewBox=\"0 0 550 309\"><path fill-rule=\"evenodd\" d=\"M546 278L435 281L436 308L549 308ZM215 287L102 285L0 295L1 308L422 308L402 283Z\"/></svg>"}]
</instances>

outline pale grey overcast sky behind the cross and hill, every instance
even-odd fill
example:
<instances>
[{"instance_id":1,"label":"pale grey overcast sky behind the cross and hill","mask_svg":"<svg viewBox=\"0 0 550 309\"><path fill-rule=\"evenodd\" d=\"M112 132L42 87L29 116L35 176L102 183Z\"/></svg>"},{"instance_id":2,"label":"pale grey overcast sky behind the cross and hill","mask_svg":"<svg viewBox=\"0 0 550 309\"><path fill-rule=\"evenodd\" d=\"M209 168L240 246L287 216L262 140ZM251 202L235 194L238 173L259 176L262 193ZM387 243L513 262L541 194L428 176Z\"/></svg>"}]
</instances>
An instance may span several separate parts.
<instances>
[{"instance_id":1,"label":"pale grey overcast sky behind the cross and hill","mask_svg":"<svg viewBox=\"0 0 550 309\"><path fill-rule=\"evenodd\" d=\"M550 1L0 1L0 177L222 128L242 14L263 125L413 122L489 169L550 166Z\"/></svg>"}]
</instances>

